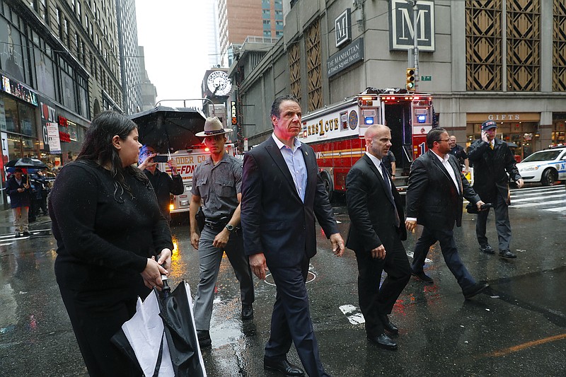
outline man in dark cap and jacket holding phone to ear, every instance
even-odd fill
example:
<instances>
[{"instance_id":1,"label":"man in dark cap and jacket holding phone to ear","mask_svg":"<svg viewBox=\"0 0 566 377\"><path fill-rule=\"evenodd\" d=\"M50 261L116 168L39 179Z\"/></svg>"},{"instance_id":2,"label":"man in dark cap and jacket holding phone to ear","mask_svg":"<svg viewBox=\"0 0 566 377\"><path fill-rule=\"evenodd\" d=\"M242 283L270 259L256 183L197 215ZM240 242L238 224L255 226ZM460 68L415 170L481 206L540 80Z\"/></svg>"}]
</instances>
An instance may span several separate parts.
<instances>
[{"instance_id":1,"label":"man in dark cap and jacket holding phone to ear","mask_svg":"<svg viewBox=\"0 0 566 377\"><path fill-rule=\"evenodd\" d=\"M519 188L523 187L524 182L511 149L505 141L497 139L496 135L497 123L487 120L482 124L482 139L470 145L468 157L473 163L473 188L484 202L492 203L495 211L495 228L497 238L499 238L499 256L516 258L516 255L509 250L511 243L509 177L517 183ZM478 214L475 236L478 238L480 250L483 253L494 254L495 250L487 242L487 236L485 236L489 214L490 211L480 211Z\"/></svg>"}]
</instances>

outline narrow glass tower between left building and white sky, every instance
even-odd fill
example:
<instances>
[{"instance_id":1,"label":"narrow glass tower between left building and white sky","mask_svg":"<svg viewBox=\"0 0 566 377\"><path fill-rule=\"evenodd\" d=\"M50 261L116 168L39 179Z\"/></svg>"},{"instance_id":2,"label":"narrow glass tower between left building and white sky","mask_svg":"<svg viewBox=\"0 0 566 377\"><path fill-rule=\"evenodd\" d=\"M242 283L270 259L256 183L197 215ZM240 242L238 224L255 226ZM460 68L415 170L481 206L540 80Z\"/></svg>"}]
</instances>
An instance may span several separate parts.
<instances>
[{"instance_id":1,"label":"narrow glass tower between left building and white sky","mask_svg":"<svg viewBox=\"0 0 566 377\"><path fill-rule=\"evenodd\" d=\"M141 109L141 72L137 58L136 1L115 1L123 106L126 114L133 114Z\"/></svg>"}]
</instances>

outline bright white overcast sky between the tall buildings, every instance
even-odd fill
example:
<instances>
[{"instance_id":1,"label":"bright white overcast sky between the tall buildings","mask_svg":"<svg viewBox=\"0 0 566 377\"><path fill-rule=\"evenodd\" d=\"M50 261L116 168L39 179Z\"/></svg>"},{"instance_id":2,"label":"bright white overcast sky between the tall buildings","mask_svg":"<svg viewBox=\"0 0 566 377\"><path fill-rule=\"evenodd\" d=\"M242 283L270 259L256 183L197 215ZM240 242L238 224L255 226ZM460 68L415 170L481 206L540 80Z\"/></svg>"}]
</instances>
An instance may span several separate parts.
<instances>
[{"instance_id":1,"label":"bright white overcast sky between the tall buildings","mask_svg":"<svg viewBox=\"0 0 566 377\"><path fill-rule=\"evenodd\" d=\"M208 69L202 1L136 0L138 43L157 100L200 98Z\"/></svg>"}]
</instances>

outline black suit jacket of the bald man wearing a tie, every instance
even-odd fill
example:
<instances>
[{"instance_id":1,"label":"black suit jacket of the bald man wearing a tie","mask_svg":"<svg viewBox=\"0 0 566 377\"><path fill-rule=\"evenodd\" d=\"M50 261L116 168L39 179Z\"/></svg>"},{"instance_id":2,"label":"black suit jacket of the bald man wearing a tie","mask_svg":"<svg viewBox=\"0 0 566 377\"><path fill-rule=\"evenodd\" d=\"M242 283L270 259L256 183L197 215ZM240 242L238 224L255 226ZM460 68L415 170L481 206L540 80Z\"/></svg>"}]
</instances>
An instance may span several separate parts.
<instances>
[{"instance_id":1,"label":"black suit jacket of the bald man wearing a tie","mask_svg":"<svg viewBox=\"0 0 566 377\"><path fill-rule=\"evenodd\" d=\"M366 154L352 166L346 177L350 215L347 248L368 252L383 245L386 250L392 250L395 238L407 239L401 197L395 185L391 186L393 202L383 177ZM395 228L395 208L400 222L398 228Z\"/></svg>"}]
</instances>

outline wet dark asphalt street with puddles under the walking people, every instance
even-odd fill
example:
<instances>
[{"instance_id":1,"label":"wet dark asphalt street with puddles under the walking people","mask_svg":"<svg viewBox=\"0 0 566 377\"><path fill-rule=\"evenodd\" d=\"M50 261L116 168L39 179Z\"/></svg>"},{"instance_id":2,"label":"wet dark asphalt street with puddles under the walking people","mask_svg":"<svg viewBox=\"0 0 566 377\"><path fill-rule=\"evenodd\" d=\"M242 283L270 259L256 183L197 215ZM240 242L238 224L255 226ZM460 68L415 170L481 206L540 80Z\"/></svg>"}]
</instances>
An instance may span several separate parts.
<instances>
[{"instance_id":1,"label":"wet dark asphalt street with puddles under the walking people","mask_svg":"<svg viewBox=\"0 0 566 377\"><path fill-rule=\"evenodd\" d=\"M544 204L548 195L562 203ZM458 249L470 273L490 289L464 301L439 247L433 246L425 271L434 284L411 279L391 315L400 327L395 352L366 341L359 323L354 253L335 257L320 233L307 286L326 371L334 377L566 376L566 190L564 185L531 187L515 191L512 200L512 251L519 257L504 260L480 253L475 215L464 214L463 226L455 232ZM340 200L335 214L346 237L349 220ZM40 220L32 229L49 228L48 219ZM4 219L0 226L0 376L86 376L54 279L54 238L37 232L16 240L6 223ZM187 224L173 226L171 283L185 279L194 294L198 262L188 232ZM405 242L409 256L416 236ZM493 214L487 236L496 246ZM262 369L275 286L269 278L255 279L255 288L255 318L243 323L238 283L224 258L212 349L203 353L208 376L281 376ZM289 360L300 365L294 349Z\"/></svg>"}]
</instances>

